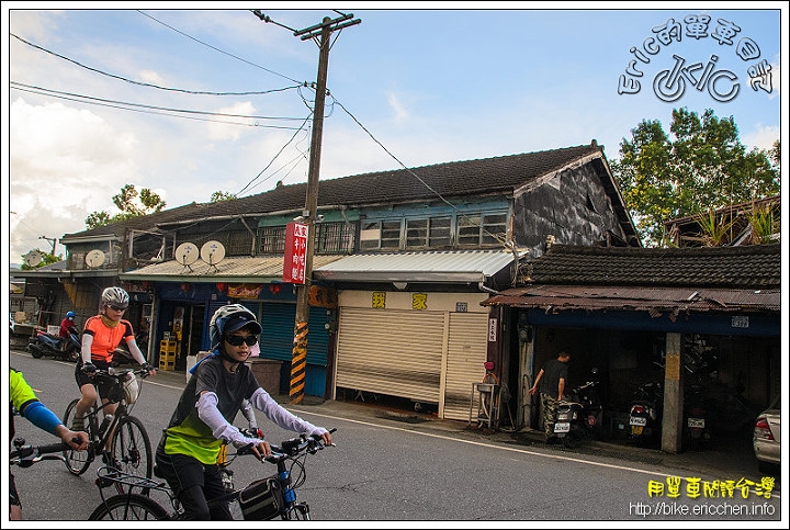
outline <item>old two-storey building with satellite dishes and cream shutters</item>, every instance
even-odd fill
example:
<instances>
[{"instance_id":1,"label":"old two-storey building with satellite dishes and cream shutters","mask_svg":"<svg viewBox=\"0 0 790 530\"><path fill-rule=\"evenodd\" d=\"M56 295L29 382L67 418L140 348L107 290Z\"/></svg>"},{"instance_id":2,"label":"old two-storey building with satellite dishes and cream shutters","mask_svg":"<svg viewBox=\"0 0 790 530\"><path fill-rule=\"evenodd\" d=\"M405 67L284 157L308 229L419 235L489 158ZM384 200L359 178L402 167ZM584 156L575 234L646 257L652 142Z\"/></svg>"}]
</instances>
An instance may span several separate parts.
<instances>
[{"instance_id":1,"label":"old two-storey building with satellite dishes and cream shutters","mask_svg":"<svg viewBox=\"0 0 790 530\"><path fill-rule=\"evenodd\" d=\"M174 348L178 370L207 348L214 309L244 303L263 324L261 357L284 362L286 383L295 289L282 281L285 227L305 193L278 185L67 234L59 285L90 314L99 290L121 282L133 324L150 334L149 359ZM317 213L306 393L397 396L454 419L469 418L470 383L495 343L481 303L514 285L520 259L541 256L549 236L640 246L595 140L324 180ZM204 259L206 246L222 256Z\"/></svg>"}]
</instances>

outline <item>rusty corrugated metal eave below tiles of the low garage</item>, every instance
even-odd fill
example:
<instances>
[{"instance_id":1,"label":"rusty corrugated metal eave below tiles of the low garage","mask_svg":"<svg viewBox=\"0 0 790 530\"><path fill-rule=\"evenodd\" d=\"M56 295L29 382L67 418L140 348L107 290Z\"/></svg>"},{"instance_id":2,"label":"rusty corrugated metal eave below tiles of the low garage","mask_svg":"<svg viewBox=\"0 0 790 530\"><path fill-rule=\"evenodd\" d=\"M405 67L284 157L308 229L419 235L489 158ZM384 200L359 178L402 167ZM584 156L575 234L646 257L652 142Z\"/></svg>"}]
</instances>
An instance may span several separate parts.
<instances>
[{"instance_id":1,"label":"rusty corrugated metal eave below tiles of the low garage","mask_svg":"<svg viewBox=\"0 0 790 530\"><path fill-rule=\"evenodd\" d=\"M531 285L508 289L481 303L485 306L569 309L627 309L661 313L776 312L781 309L778 289L625 287L579 285Z\"/></svg>"}]
</instances>

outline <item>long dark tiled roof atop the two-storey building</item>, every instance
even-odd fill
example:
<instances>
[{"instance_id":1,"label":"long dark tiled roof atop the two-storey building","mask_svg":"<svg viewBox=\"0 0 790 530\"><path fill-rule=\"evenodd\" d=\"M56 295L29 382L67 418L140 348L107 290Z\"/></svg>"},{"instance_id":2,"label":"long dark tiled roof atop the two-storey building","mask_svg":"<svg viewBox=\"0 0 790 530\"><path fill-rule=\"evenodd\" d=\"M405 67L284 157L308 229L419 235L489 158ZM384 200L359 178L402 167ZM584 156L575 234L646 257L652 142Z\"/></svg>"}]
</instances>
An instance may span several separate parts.
<instances>
[{"instance_id":1,"label":"long dark tiled roof atop the two-storey building","mask_svg":"<svg viewBox=\"0 0 790 530\"><path fill-rule=\"evenodd\" d=\"M596 154L602 156L602 150L597 144L591 143L562 149L321 180L318 183L318 206L343 204L353 207L439 199L437 194L450 199L508 192L520 188L530 180ZM66 237L109 234L120 236L126 228L145 229L182 219L298 211L304 208L306 190L306 183L280 185L256 195L216 203L191 203L109 226L67 234Z\"/></svg>"}]
</instances>

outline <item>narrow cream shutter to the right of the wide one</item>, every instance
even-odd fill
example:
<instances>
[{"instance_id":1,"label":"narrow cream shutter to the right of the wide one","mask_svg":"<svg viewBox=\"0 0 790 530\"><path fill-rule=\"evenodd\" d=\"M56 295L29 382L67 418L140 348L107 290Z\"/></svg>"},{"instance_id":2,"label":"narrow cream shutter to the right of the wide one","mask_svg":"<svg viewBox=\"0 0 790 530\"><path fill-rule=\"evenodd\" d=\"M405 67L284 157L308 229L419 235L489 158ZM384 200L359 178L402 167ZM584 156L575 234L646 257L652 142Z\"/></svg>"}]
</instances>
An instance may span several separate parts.
<instances>
[{"instance_id":1,"label":"narrow cream shutter to the right of the wide one","mask_svg":"<svg viewBox=\"0 0 790 530\"><path fill-rule=\"evenodd\" d=\"M485 375L488 347L488 315L451 313L448 345L444 419L470 419L472 383Z\"/></svg>"}]
</instances>

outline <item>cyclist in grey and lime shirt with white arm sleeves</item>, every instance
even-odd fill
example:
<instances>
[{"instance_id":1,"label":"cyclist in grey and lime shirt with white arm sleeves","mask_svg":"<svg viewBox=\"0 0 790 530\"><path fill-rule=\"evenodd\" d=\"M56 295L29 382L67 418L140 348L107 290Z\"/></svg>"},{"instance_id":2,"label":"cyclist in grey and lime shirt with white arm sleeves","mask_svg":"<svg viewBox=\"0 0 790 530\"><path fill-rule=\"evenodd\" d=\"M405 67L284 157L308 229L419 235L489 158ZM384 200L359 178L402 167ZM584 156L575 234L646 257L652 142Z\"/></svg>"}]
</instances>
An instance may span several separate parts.
<instances>
[{"instance_id":1,"label":"cyclist in grey and lime shirt with white arm sleeves","mask_svg":"<svg viewBox=\"0 0 790 530\"><path fill-rule=\"evenodd\" d=\"M195 365L157 447L157 470L184 508L185 519L233 519L227 503L211 510L207 505L207 500L225 494L217 466L223 443L237 448L252 444L258 459L271 454L267 441L247 438L233 425L244 399L283 429L331 443L325 428L294 416L272 399L245 364L260 332L256 316L240 304L214 313L210 328L212 354Z\"/></svg>"}]
</instances>

